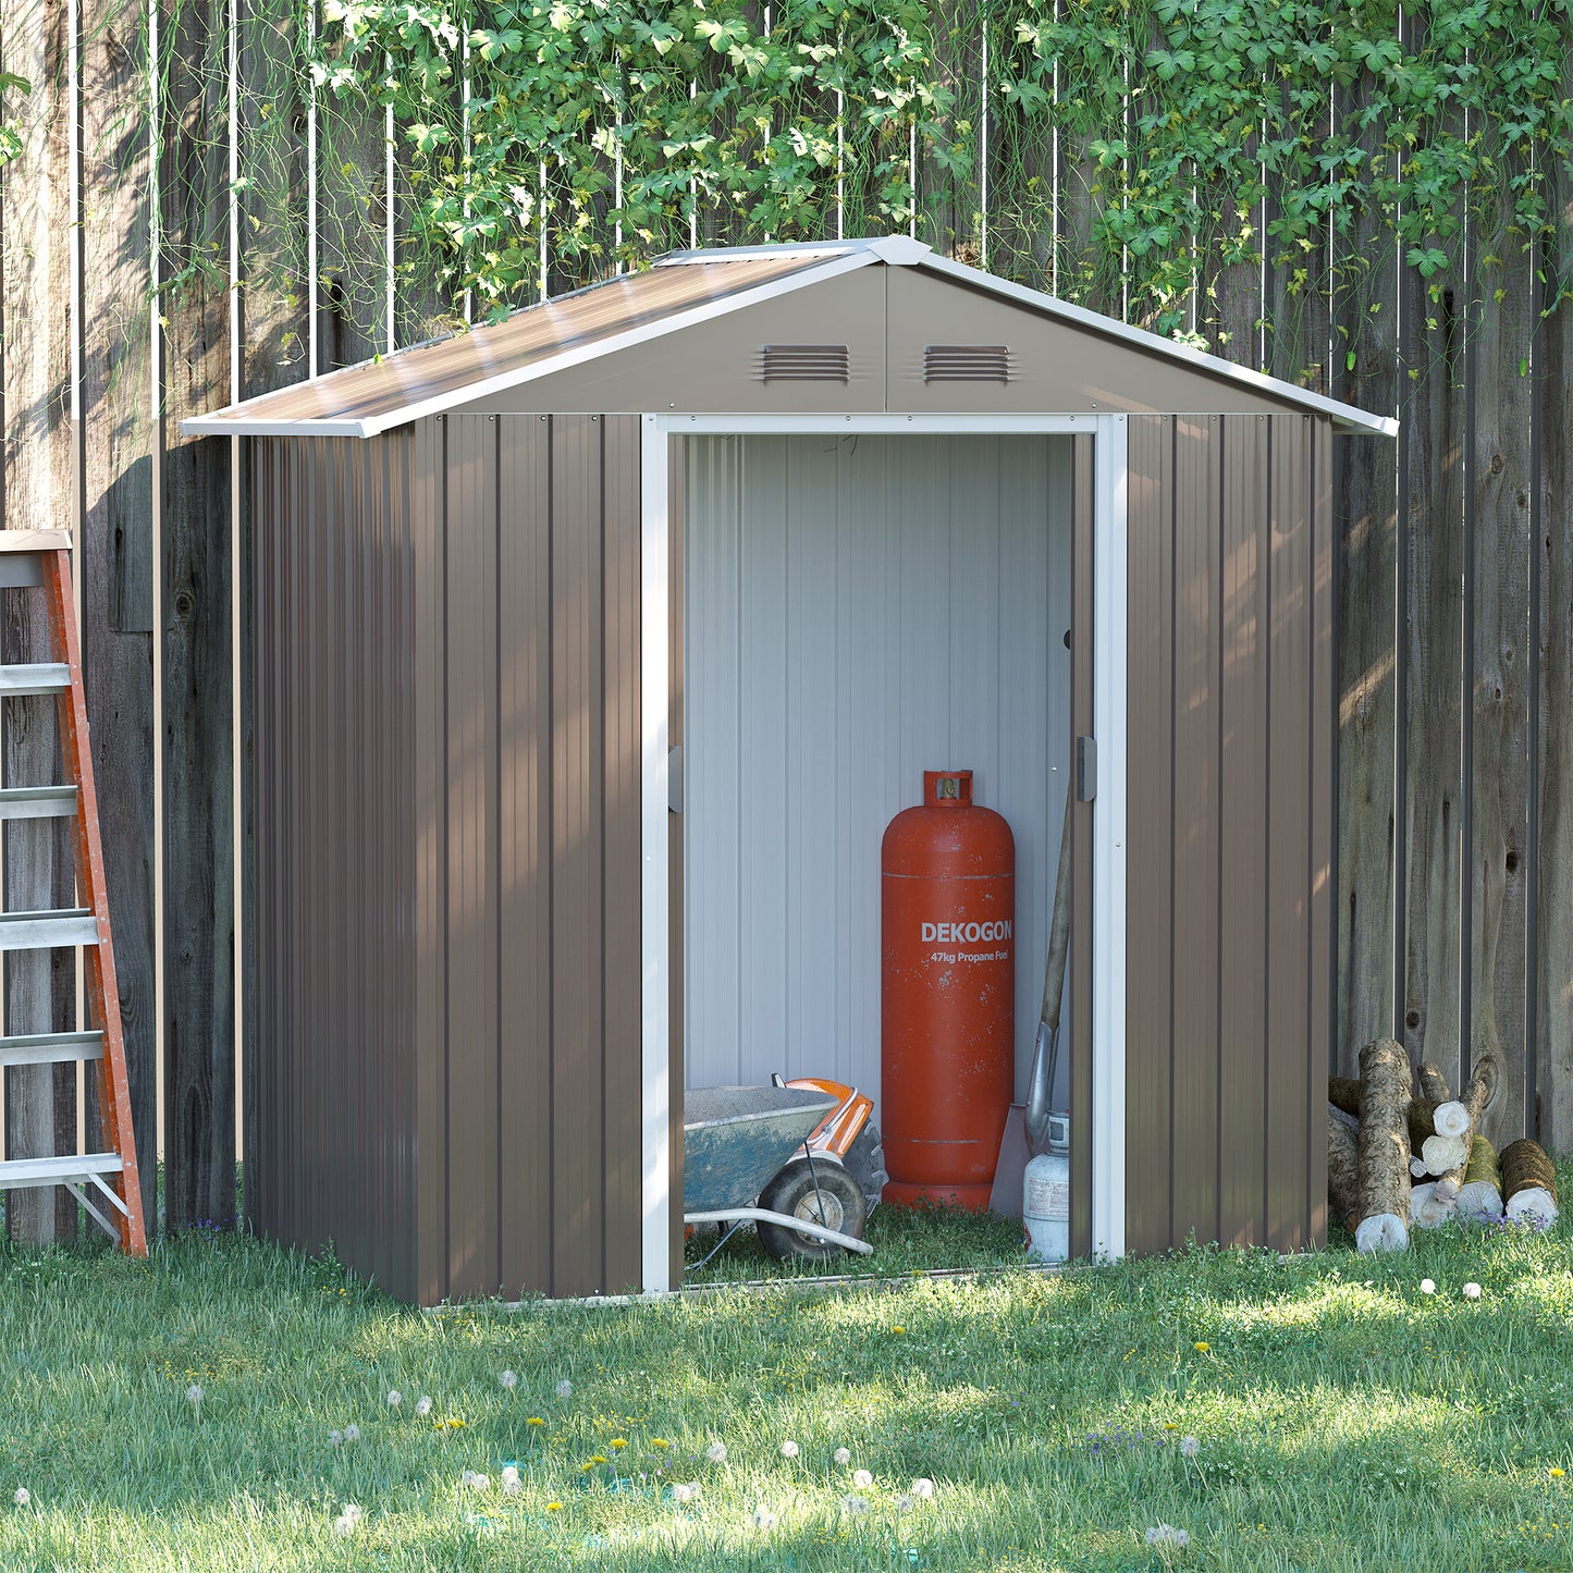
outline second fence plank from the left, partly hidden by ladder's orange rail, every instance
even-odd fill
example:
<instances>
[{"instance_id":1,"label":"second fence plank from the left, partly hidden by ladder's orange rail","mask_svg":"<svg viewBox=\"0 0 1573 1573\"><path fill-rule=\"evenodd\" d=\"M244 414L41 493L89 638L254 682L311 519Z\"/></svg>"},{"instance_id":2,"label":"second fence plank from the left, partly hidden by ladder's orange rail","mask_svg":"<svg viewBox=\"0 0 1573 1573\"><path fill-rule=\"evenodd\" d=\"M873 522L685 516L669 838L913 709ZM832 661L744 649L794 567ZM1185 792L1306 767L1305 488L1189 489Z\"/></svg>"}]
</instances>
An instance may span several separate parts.
<instances>
[{"instance_id":1,"label":"second fence plank from the left, partly hidden by ladder's orange rail","mask_svg":"<svg viewBox=\"0 0 1573 1573\"><path fill-rule=\"evenodd\" d=\"M85 0L82 669L142 1210L157 1216L148 60L137 0Z\"/></svg>"}]
</instances>

